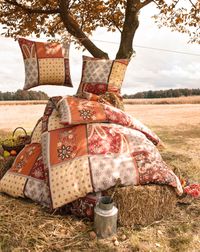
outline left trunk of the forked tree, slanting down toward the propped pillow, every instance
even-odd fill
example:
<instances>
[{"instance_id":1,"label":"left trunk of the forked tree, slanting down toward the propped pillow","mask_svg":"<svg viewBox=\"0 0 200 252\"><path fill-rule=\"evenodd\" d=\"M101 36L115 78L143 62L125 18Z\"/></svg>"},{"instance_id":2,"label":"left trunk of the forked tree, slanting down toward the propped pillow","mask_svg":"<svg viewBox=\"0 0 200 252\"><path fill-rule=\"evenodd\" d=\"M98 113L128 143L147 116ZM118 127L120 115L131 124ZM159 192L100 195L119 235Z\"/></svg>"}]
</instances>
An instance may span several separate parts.
<instances>
[{"instance_id":1,"label":"left trunk of the forked tree, slanting down toward the propped pillow","mask_svg":"<svg viewBox=\"0 0 200 252\"><path fill-rule=\"evenodd\" d=\"M63 21L67 31L77 38L80 43L96 58L108 59L108 54L100 50L96 45L88 38L88 36L81 30L78 23L72 15L69 13L68 8L69 1L60 0L60 17Z\"/></svg>"}]
</instances>

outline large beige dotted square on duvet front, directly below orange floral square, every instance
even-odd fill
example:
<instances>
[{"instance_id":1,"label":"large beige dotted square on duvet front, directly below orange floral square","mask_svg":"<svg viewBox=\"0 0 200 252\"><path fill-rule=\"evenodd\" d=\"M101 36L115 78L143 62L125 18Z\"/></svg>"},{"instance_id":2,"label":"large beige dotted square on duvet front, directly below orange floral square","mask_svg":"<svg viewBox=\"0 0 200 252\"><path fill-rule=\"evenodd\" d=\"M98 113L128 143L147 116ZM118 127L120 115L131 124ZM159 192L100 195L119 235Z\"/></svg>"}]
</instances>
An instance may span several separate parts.
<instances>
[{"instance_id":1,"label":"large beige dotted square on duvet front, directly below orange floral square","mask_svg":"<svg viewBox=\"0 0 200 252\"><path fill-rule=\"evenodd\" d=\"M93 191L87 156L51 167L49 176L53 208Z\"/></svg>"}]
</instances>

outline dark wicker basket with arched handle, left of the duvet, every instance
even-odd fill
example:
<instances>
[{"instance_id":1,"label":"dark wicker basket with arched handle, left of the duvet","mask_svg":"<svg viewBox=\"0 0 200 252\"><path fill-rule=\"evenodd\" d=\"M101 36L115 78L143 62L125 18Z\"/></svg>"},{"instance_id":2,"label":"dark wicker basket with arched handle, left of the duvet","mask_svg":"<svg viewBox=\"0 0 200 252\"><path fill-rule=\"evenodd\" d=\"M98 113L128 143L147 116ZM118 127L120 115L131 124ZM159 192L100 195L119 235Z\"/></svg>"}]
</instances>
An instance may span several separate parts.
<instances>
[{"instance_id":1,"label":"dark wicker basket with arched handle, left of the duvet","mask_svg":"<svg viewBox=\"0 0 200 252\"><path fill-rule=\"evenodd\" d=\"M19 135L16 139L19 140L20 144L13 144L12 146L9 144L6 144L6 141L13 141L15 139L15 133L17 130L23 130L24 131L24 135ZM26 144L29 144L31 141L31 137L27 134L26 130L22 127L17 127L13 133L12 133L12 139L6 139L4 140L4 142L2 143L2 147L4 150L10 152L11 150L15 150L17 153L19 153Z\"/></svg>"}]
</instances>

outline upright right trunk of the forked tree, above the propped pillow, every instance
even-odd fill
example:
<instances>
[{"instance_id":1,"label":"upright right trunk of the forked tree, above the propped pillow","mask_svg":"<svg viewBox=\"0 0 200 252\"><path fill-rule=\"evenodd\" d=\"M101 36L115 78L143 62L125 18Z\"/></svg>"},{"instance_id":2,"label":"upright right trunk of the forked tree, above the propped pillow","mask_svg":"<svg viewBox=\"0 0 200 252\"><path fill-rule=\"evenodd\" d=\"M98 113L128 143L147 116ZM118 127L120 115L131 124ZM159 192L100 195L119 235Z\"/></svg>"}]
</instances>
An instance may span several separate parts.
<instances>
[{"instance_id":1,"label":"upright right trunk of the forked tree, above the propped pillow","mask_svg":"<svg viewBox=\"0 0 200 252\"><path fill-rule=\"evenodd\" d=\"M121 33L121 42L116 59L130 59L133 54L133 38L139 26L139 0L127 0L125 20Z\"/></svg>"}]
</instances>

